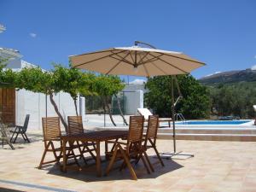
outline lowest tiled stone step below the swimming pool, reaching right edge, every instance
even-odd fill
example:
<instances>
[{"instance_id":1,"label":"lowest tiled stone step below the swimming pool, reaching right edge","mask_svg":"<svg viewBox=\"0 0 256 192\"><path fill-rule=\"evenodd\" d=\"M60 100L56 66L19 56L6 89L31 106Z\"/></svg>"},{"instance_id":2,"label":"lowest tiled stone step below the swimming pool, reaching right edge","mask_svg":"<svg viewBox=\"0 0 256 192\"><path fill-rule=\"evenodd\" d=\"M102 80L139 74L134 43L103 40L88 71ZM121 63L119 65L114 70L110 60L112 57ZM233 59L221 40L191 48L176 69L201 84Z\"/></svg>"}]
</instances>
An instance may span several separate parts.
<instances>
[{"instance_id":1,"label":"lowest tiled stone step below the swimming pool, reaching right edge","mask_svg":"<svg viewBox=\"0 0 256 192\"><path fill-rule=\"evenodd\" d=\"M158 133L159 139L172 139L171 133ZM199 140L199 141L239 141L256 142L256 134L193 134L177 133L177 140Z\"/></svg>"}]
</instances>

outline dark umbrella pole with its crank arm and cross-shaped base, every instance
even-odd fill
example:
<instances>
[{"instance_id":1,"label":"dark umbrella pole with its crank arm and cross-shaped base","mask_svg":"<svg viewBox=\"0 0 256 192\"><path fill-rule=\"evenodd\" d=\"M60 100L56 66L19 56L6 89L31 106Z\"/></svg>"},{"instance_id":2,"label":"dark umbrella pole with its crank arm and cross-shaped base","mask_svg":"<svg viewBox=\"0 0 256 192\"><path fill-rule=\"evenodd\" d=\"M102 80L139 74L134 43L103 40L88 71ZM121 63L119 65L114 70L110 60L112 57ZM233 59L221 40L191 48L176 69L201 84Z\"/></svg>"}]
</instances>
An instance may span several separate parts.
<instances>
[{"instance_id":1,"label":"dark umbrella pole with its crank arm and cross-shaped base","mask_svg":"<svg viewBox=\"0 0 256 192\"><path fill-rule=\"evenodd\" d=\"M177 85L177 90L179 92L179 97L177 98L177 101L174 102L174 84L173 84L173 78L176 81L176 85ZM180 152L176 152L176 130L175 130L175 105L177 104L178 100L180 99L181 93L179 90L179 86L177 83L177 79L176 77L171 77L171 96L172 96L172 140L173 140L173 152L167 152L167 153L162 153L160 154L161 158L170 160L170 159L187 159L187 158L175 158L175 156L187 156L188 158L190 157L194 157L194 154L183 154L182 151Z\"/></svg>"}]
</instances>

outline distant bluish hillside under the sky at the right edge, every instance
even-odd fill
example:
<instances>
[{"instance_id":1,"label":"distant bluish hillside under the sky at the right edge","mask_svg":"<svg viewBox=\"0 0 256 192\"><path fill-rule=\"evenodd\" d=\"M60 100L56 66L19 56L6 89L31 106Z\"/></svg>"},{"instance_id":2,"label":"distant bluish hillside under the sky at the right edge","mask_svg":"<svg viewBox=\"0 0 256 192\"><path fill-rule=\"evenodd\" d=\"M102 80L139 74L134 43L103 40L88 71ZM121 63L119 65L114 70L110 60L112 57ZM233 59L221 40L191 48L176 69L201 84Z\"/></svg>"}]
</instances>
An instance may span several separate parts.
<instances>
[{"instance_id":1,"label":"distant bluish hillside under the sky at the right edge","mask_svg":"<svg viewBox=\"0 0 256 192\"><path fill-rule=\"evenodd\" d=\"M202 84L256 82L256 70L246 69L241 71L214 73L199 79L199 81Z\"/></svg>"}]
</instances>

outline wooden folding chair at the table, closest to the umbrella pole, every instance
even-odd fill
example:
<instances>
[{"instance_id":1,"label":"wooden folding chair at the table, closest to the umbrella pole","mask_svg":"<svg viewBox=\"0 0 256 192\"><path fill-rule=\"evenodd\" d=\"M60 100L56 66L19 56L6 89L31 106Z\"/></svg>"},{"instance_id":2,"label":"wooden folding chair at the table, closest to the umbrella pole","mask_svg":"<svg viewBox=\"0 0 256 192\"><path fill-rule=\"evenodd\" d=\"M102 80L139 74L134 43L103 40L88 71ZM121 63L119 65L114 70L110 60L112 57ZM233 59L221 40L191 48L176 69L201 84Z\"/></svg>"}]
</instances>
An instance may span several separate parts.
<instances>
[{"instance_id":1,"label":"wooden folding chair at the table, closest to the umbrella pole","mask_svg":"<svg viewBox=\"0 0 256 192\"><path fill-rule=\"evenodd\" d=\"M160 154L156 148L156 137L157 137L158 128L159 128L158 115L149 115L148 116L148 129L147 129L146 134L144 135L145 137L144 137L143 149L145 150L144 154L145 154L146 160L148 161L148 165L150 166L150 169L152 172L154 172L154 168L148 159L148 154L146 153L148 148L154 148L154 152L155 152L158 160L160 161L160 164L162 166L165 166L164 162L163 162L163 160L161 160Z\"/></svg>"}]
</instances>

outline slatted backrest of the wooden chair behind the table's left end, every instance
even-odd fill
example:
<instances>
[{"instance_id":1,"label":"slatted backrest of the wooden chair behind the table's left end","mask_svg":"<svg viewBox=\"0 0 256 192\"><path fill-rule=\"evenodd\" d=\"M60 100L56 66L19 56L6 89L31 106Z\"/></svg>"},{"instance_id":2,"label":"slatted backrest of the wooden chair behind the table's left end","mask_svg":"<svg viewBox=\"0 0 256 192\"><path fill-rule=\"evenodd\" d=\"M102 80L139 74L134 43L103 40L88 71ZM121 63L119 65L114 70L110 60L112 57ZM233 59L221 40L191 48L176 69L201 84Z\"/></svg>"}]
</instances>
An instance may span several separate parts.
<instances>
[{"instance_id":1,"label":"slatted backrest of the wooden chair behind the table's left end","mask_svg":"<svg viewBox=\"0 0 256 192\"><path fill-rule=\"evenodd\" d=\"M76 135L84 133L82 116L68 116L67 135Z\"/></svg>"}]
</instances>

